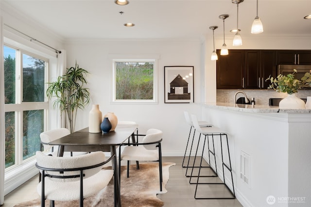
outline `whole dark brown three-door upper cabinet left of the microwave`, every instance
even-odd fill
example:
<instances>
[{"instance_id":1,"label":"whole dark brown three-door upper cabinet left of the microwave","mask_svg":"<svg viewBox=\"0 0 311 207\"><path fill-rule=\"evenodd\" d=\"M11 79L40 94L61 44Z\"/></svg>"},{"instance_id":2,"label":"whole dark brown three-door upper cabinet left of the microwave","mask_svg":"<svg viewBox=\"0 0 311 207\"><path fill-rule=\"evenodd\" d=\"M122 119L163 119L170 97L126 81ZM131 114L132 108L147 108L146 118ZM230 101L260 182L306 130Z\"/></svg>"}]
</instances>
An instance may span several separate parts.
<instances>
[{"instance_id":1,"label":"whole dark brown three-door upper cabinet left of the microwave","mask_svg":"<svg viewBox=\"0 0 311 207\"><path fill-rule=\"evenodd\" d=\"M218 89L266 89L265 81L270 75L276 76L276 50L229 50L221 56L217 50Z\"/></svg>"}]
</instances>

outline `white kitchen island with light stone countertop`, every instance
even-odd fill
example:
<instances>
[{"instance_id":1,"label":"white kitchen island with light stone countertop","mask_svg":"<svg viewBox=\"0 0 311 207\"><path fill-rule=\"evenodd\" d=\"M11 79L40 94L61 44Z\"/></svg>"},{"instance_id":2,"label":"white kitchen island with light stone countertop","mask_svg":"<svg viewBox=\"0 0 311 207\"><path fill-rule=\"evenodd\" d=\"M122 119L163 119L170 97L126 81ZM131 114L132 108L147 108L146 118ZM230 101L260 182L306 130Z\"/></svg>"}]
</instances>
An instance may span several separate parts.
<instances>
[{"instance_id":1,"label":"white kitchen island with light stone countertop","mask_svg":"<svg viewBox=\"0 0 311 207\"><path fill-rule=\"evenodd\" d=\"M310 109L199 105L203 120L228 132L236 196L243 206L311 206Z\"/></svg>"}]
</instances>

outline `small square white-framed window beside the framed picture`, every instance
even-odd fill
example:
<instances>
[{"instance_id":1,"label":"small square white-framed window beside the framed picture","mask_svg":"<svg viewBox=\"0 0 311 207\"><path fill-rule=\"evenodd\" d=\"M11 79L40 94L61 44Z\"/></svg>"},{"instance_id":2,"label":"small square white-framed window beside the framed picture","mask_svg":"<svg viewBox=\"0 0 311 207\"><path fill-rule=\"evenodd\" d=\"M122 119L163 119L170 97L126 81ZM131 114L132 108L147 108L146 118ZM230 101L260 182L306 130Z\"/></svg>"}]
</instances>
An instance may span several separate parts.
<instances>
[{"instance_id":1,"label":"small square white-framed window beside the framed picture","mask_svg":"<svg viewBox=\"0 0 311 207\"><path fill-rule=\"evenodd\" d=\"M115 103L156 103L155 59L113 59Z\"/></svg>"}]
</instances>

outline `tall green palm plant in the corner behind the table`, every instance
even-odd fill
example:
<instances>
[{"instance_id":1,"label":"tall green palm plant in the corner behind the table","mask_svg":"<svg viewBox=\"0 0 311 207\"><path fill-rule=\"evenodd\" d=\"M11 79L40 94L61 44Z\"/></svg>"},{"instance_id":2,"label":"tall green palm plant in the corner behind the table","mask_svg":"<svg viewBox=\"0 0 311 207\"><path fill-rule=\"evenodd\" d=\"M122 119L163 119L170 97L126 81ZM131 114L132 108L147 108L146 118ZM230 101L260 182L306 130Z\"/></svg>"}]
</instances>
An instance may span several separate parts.
<instances>
[{"instance_id":1,"label":"tall green palm plant in the corner behind the table","mask_svg":"<svg viewBox=\"0 0 311 207\"><path fill-rule=\"evenodd\" d=\"M71 133L74 132L77 109L84 109L90 101L89 89L84 87L86 74L88 72L76 63L75 67L67 68L65 75L48 83L47 97L49 100L55 97L53 107L58 106L61 115L65 115L65 127Z\"/></svg>"}]
</instances>

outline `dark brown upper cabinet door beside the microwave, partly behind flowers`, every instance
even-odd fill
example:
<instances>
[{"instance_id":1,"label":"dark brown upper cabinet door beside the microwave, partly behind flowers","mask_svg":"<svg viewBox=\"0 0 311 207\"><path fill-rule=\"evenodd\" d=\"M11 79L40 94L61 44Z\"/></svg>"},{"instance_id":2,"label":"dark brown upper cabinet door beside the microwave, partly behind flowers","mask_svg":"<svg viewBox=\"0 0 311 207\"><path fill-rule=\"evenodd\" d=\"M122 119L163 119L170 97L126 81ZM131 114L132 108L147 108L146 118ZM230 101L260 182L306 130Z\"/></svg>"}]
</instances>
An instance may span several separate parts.
<instances>
[{"instance_id":1,"label":"dark brown upper cabinet door beside the microwave, partly behind flowers","mask_svg":"<svg viewBox=\"0 0 311 207\"><path fill-rule=\"evenodd\" d=\"M276 77L276 50L261 50L260 51L260 88L267 89L270 85L270 81L266 82L266 79L271 75Z\"/></svg>"}]
</instances>

